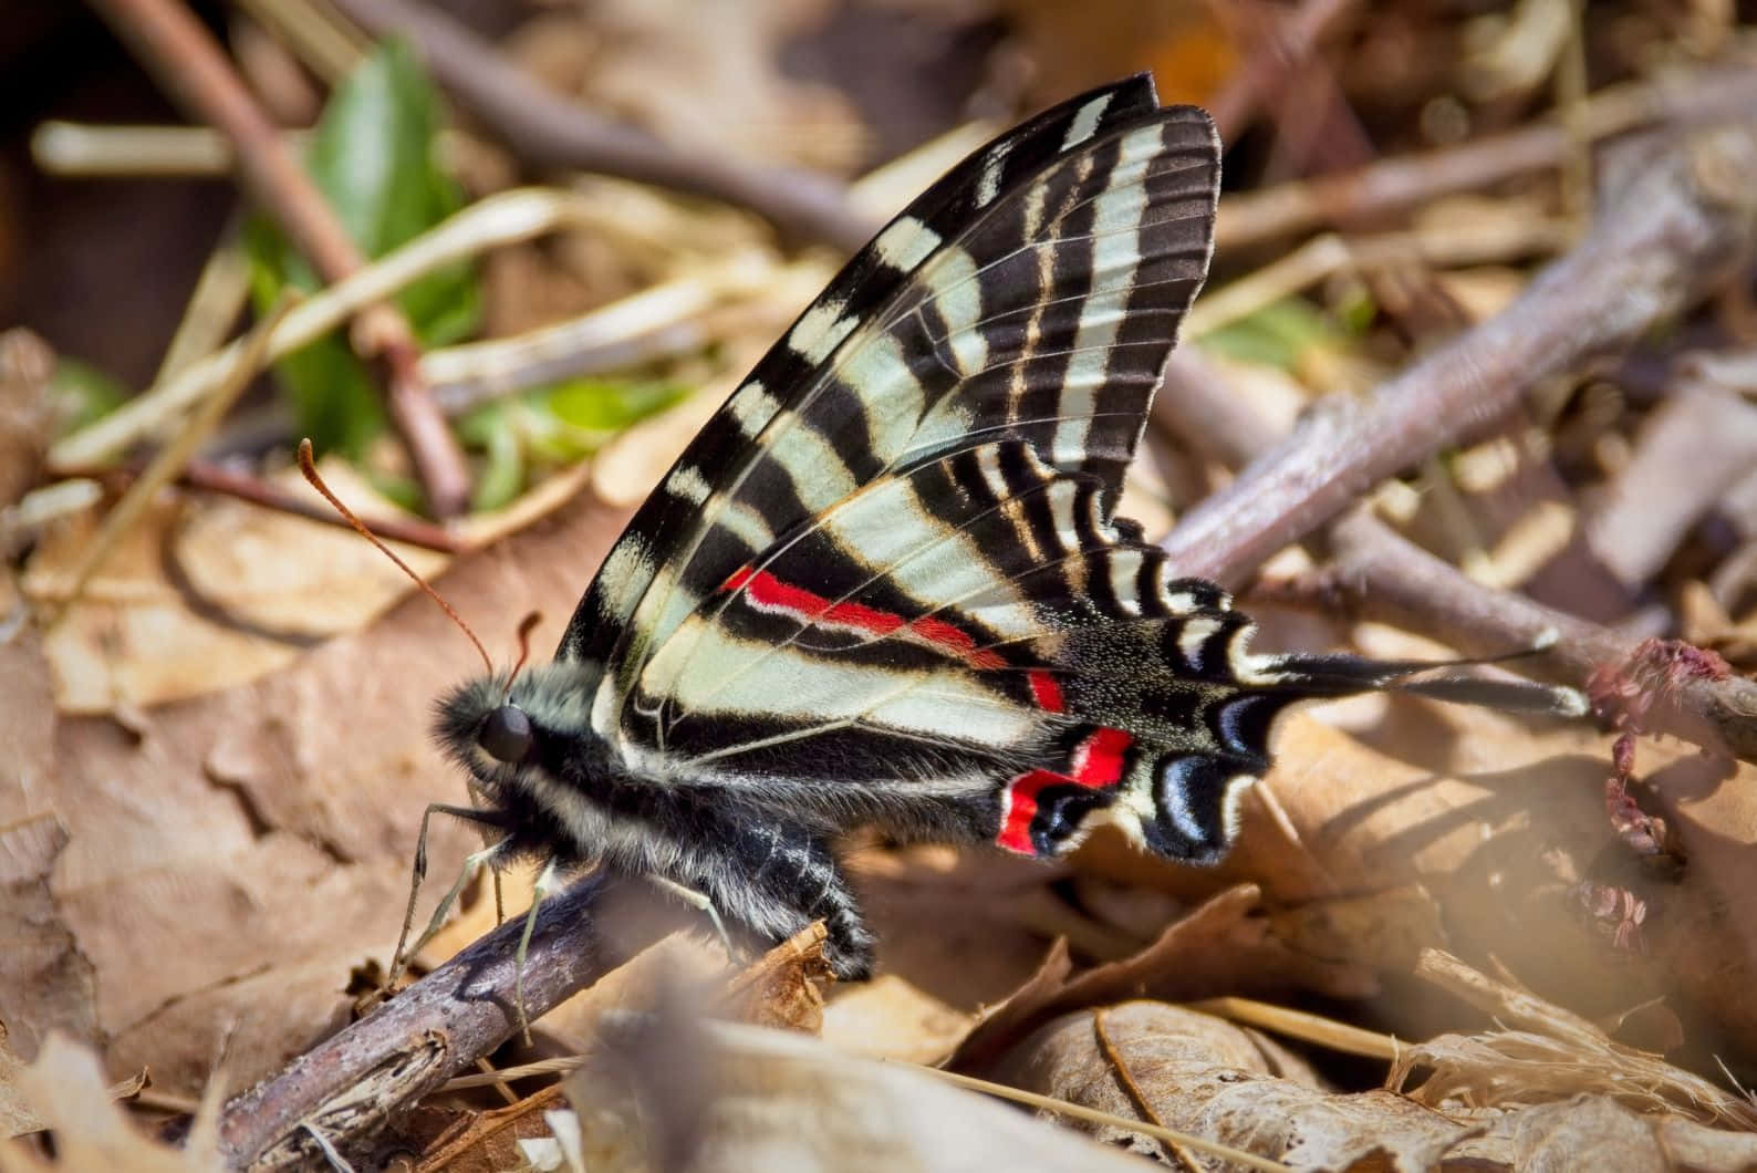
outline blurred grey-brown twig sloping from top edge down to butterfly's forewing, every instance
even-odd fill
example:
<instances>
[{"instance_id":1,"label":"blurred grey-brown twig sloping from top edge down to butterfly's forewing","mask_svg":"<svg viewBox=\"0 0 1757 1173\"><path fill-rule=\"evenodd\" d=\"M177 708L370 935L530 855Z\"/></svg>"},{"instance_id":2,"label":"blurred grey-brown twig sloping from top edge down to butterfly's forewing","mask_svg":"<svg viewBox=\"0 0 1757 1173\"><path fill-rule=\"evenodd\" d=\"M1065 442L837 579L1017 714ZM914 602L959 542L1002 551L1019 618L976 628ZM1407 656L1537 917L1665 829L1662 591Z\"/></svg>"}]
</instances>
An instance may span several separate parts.
<instances>
[{"instance_id":1,"label":"blurred grey-brown twig sloping from top edge down to butterfly's forewing","mask_svg":"<svg viewBox=\"0 0 1757 1173\"><path fill-rule=\"evenodd\" d=\"M114 0L111 0L114 2ZM701 149L673 149L545 90L467 28L406 0L337 0L374 35L413 40L434 77L527 167L575 169L638 179L748 207L785 235L843 251L880 227L857 214L845 188L815 172L752 167Z\"/></svg>"}]
</instances>

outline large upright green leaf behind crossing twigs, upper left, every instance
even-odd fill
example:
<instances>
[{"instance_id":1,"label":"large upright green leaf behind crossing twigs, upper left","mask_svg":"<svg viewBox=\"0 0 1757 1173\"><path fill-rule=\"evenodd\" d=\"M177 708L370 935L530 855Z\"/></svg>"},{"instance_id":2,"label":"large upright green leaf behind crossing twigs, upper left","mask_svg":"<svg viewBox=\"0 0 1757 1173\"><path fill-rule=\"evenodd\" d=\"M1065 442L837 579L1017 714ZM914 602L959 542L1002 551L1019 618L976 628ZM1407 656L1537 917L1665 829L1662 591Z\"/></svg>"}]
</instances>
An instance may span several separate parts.
<instances>
[{"instance_id":1,"label":"large upright green leaf behind crossing twigs, upper left","mask_svg":"<svg viewBox=\"0 0 1757 1173\"><path fill-rule=\"evenodd\" d=\"M306 169L336 218L367 256L383 256L455 212L457 183L436 156L439 98L415 54L387 42L330 95L306 149ZM258 313L288 284L318 288L306 260L264 218L246 230ZM397 304L423 346L471 334L481 316L474 269L457 263L408 286ZM276 363L299 425L320 448L355 457L385 428L371 374L346 339L318 339Z\"/></svg>"}]
</instances>

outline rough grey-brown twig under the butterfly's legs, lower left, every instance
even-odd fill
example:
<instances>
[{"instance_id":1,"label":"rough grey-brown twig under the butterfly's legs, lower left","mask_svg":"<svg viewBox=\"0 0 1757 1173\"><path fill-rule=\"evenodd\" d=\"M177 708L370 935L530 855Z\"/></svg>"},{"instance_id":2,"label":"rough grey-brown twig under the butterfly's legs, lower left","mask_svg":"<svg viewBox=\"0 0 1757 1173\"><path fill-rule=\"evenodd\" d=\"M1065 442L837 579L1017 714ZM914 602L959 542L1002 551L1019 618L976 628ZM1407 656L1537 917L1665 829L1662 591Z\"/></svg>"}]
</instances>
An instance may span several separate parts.
<instances>
[{"instance_id":1,"label":"rough grey-brown twig under the butterfly's legs, lower left","mask_svg":"<svg viewBox=\"0 0 1757 1173\"><path fill-rule=\"evenodd\" d=\"M604 971L592 913L613 883L603 874L587 876L538 911L524 971L532 1018ZM522 931L522 917L503 924L372 1015L232 1099L220 1117L227 1164L309 1161L315 1147L302 1131L307 1124L348 1147L471 1069L518 1029L511 990L513 948Z\"/></svg>"}]
</instances>

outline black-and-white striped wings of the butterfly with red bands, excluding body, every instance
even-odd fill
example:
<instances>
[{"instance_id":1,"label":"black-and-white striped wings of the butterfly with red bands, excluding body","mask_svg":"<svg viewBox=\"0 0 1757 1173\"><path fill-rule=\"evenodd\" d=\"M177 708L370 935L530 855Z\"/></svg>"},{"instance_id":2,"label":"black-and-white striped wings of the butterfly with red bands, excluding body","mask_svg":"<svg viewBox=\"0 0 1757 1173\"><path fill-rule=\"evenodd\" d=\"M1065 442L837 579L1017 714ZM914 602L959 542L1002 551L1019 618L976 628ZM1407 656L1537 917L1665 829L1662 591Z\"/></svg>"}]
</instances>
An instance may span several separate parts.
<instances>
[{"instance_id":1,"label":"black-and-white striped wings of the butterfly with red bands, excluding body","mask_svg":"<svg viewBox=\"0 0 1757 1173\"><path fill-rule=\"evenodd\" d=\"M1239 692L1242 622L1112 520L1207 270L1218 176L1209 118L1135 77L1003 135L880 232L575 613L560 655L603 669L592 723L615 752L806 804L838 802L826 780L968 799L984 834L1033 852L1124 792L1151 815L1175 776L1202 810L1158 846L1218 846L1237 771L1204 720ZM1116 699L1109 667L1177 692L1174 716ZM1262 743L1240 729L1249 773ZM1226 759L1202 767L1212 801L1172 750Z\"/></svg>"}]
</instances>

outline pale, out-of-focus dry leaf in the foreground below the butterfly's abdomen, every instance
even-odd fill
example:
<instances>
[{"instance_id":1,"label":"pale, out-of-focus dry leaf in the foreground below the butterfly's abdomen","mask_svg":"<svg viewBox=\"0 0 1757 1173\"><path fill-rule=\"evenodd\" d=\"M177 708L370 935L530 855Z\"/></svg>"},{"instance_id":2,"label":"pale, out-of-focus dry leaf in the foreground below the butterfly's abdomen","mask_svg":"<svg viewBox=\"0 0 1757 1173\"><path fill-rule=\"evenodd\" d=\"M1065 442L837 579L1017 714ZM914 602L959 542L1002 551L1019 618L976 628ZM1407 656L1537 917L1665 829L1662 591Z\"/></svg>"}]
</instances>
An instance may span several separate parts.
<instances>
[{"instance_id":1,"label":"pale, out-of-focus dry leaf in the foreground below the butterfly's abdomen","mask_svg":"<svg viewBox=\"0 0 1757 1173\"><path fill-rule=\"evenodd\" d=\"M898 1064L661 1011L568 1080L594 1173L1139 1169L1123 1154Z\"/></svg>"}]
</instances>

